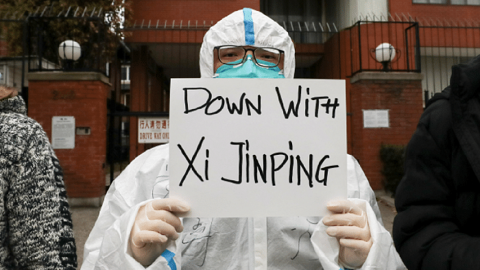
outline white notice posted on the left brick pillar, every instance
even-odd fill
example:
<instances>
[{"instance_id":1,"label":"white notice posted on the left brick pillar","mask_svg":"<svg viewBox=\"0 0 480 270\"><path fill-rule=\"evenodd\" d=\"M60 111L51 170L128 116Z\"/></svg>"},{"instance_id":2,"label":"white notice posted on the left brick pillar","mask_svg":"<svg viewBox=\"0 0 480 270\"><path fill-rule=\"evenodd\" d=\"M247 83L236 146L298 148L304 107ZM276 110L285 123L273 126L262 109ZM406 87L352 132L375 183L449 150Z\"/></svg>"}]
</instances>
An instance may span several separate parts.
<instances>
[{"instance_id":1,"label":"white notice posted on the left brick pillar","mask_svg":"<svg viewBox=\"0 0 480 270\"><path fill-rule=\"evenodd\" d=\"M75 148L75 117L53 116L51 119L51 147L53 149Z\"/></svg>"}]
</instances>

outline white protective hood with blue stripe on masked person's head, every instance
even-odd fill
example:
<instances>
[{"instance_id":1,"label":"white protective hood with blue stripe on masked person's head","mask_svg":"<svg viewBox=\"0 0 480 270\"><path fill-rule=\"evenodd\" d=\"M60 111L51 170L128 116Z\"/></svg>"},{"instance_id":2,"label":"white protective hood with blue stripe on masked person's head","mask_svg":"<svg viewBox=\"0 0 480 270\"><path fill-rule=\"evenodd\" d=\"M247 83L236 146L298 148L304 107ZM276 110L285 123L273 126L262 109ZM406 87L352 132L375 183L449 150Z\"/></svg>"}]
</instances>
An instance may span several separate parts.
<instances>
[{"instance_id":1,"label":"white protective hood with blue stripe on masked person's head","mask_svg":"<svg viewBox=\"0 0 480 270\"><path fill-rule=\"evenodd\" d=\"M253 32L250 28L252 24ZM247 28L247 34L245 34L245 27ZM250 45L281 49L285 51L283 73L285 78L293 79L295 74L293 42L283 27L261 12L250 8L238 10L221 19L206 32L200 49L200 74L202 78L213 77L213 48L221 45Z\"/></svg>"}]
</instances>

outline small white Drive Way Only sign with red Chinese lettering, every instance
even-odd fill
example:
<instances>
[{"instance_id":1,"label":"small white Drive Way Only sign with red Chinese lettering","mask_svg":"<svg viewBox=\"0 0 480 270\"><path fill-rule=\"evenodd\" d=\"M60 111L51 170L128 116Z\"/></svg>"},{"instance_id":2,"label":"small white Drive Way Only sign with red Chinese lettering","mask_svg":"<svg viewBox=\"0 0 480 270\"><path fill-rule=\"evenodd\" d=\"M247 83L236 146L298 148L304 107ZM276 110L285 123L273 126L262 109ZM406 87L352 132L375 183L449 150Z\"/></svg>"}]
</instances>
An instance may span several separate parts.
<instances>
[{"instance_id":1,"label":"small white Drive Way Only sign with red Chinese lettering","mask_svg":"<svg viewBox=\"0 0 480 270\"><path fill-rule=\"evenodd\" d=\"M168 143L170 121L165 117L139 118L139 143Z\"/></svg>"}]
</instances>

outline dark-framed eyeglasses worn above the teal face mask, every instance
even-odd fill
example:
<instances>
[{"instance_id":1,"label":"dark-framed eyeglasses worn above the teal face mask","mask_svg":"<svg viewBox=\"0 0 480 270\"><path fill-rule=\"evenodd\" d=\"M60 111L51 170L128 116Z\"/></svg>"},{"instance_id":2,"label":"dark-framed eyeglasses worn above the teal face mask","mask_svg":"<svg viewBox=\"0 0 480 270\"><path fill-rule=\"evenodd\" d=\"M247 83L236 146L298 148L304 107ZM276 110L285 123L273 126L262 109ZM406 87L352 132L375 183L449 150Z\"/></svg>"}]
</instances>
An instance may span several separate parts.
<instances>
[{"instance_id":1,"label":"dark-framed eyeglasses worn above the teal face mask","mask_svg":"<svg viewBox=\"0 0 480 270\"><path fill-rule=\"evenodd\" d=\"M284 51L275 48L258 47L243 48L241 46L223 45L214 47L218 51L218 59L223 64L240 64L245 61L247 51L253 51L253 58L259 66L274 67L280 63Z\"/></svg>"}]
</instances>

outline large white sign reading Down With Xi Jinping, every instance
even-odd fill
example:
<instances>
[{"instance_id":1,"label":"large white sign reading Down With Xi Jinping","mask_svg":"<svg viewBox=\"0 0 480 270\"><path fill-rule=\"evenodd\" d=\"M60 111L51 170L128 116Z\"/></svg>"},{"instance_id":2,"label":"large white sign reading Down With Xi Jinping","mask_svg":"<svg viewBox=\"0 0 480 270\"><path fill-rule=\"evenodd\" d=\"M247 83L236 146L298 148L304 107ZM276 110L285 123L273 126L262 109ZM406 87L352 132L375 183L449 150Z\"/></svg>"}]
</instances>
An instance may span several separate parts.
<instances>
[{"instance_id":1,"label":"large white sign reading Down With Xi Jinping","mask_svg":"<svg viewBox=\"0 0 480 270\"><path fill-rule=\"evenodd\" d=\"M170 195L189 217L322 216L346 198L344 80L171 79L170 101Z\"/></svg>"}]
</instances>

